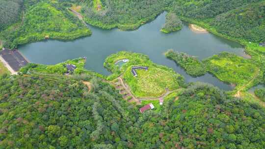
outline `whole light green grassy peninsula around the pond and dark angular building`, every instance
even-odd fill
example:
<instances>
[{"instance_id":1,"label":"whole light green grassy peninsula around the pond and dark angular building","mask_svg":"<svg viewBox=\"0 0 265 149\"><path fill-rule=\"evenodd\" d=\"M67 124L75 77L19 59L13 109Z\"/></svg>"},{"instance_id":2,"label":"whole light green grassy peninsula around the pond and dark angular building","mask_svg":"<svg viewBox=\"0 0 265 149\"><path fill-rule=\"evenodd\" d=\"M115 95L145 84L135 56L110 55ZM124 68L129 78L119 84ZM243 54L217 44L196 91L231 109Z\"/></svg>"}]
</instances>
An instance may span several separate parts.
<instances>
[{"instance_id":1,"label":"whole light green grassy peninsula around the pond and dark angular building","mask_svg":"<svg viewBox=\"0 0 265 149\"><path fill-rule=\"evenodd\" d=\"M115 62L122 59L129 59L129 62L121 67L115 65ZM159 97L166 92L166 89L178 89L183 83L183 77L176 74L173 69L157 65L148 56L139 53L120 51L108 56L104 66L113 73L108 79L115 79L121 75L137 98ZM136 70L138 76L133 77L131 73L133 66L146 66L149 69Z\"/></svg>"}]
</instances>

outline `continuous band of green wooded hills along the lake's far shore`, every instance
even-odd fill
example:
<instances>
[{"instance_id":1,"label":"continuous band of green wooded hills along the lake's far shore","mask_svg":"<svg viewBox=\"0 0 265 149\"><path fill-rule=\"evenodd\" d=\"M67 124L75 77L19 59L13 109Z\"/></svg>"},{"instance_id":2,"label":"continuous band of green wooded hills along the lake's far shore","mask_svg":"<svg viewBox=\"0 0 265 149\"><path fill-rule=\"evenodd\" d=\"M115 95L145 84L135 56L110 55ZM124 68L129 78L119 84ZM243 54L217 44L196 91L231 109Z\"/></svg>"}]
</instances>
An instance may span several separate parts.
<instances>
[{"instance_id":1,"label":"continuous band of green wooded hills along the lake's far shore","mask_svg":"<svg viewBox=\"0 0 265 149\"><path fill-rule=\"evenodd\" d=\"M265 41L264 0L24 0L23 4L20 3L21 0L1 1L0 31L13 25L3 31L0 38L3 40L4 46L10 48L14 48L18 44L42 40L45 34L54 39L74 39L89 35L89 31L84 29L81 22L77 18L74 19L74 14L67 10L73 5L79 7L79 12L83 15L83 20L86 23L107 29L114 27L123 30L136 29L140 25L154 20L159 13L168 11L187 22L200 24L227 38L255 43ZM58 12L51 13L51 9L39 4L40 2L49 3ZM21 13L22 7L23 14ZM38 14L36 11L41 9L46 11L41 11L42 13ZM23 15L24 17L22 17ZM52 16L53 18L51 18ZM54 17L59 16L67 18L66 20L69 21L64 22L63 25L60 23L61 21L55 22ZM43 20L42 17L46 19ZM25 18L25 22L23 18ZM41 22L34 22L35 19L39 19ZM14 25L16 22L21 23L22 26ZM27 25L27 23L30 24ZM54 26L57 23L59 25ZM37 27L31 26L31 24L35 24ZM180 21L174 24L178 27L171 26L166 32L180 29ZM49 29L47 29L48 27ZM32 29L28 30L28 28ZM29 33L24 34L25 30ZM39 31L42 31L43 34L36 34ZM69 34L74 35L69 37ZM17 39L19 37L20 39Z\"/></svg>"}]
</instances>

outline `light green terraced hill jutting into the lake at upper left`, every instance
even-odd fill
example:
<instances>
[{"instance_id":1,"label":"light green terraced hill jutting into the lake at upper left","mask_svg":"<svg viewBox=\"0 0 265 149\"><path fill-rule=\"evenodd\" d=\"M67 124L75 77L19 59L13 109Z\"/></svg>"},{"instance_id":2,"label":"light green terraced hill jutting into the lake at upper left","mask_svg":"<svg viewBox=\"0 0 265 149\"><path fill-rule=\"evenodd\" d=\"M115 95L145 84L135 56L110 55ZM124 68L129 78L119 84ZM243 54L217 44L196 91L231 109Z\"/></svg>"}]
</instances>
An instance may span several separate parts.
<instances>
[{"instance_id":1,"label":"light green terraced hill jutting into the lake at upper left","mask_svg":"<svg viewBox=\"0 0 265 149\"><path fill-rule=\"evenodd\" d=\"M28 1L25 9L21 23L0 33L4 47L13 49L49 38L71 40L91 35L91 31L60 4Z\"/></svg>"}]
</instances>

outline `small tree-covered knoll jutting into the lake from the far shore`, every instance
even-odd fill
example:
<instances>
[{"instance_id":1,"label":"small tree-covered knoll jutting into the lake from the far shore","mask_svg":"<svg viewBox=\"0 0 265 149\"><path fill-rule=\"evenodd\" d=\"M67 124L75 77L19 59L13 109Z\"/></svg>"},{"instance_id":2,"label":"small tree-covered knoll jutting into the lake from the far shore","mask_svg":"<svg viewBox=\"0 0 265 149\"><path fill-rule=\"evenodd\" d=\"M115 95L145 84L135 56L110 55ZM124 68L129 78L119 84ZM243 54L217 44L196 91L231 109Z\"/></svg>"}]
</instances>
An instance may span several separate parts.
<instances>
[{"instance_id":1,"label":"small tree-covered knoll jutting into the lake from the far shore","mask_svg":"<svg viewBox=\"0 0 265 149\"><path fill-rule=\"evenodd\" d=\"M168 13L166 15L166 22L161 28L161 32L163 33L170 33L173 31L181 30L182 28L182 21L178 18L175 13Z\"/></svg>"}]
</instances>

